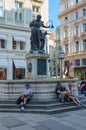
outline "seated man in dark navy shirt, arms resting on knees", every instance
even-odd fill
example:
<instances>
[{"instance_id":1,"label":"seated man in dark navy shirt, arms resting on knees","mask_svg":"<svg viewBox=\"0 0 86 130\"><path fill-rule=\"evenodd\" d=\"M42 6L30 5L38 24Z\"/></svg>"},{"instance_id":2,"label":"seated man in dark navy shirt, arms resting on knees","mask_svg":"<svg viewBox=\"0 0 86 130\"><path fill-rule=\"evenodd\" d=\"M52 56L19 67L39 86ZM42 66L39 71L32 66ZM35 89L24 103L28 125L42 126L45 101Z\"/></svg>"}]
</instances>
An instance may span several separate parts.
<instances>
[{"instance_id":1,"label":"seated man in dark navy shirt, arms resting on knees","mask_svg":"<svg viewBox=\"0 0 86 130\"><path fill-rule=\"evenodd\" d=\"M65 97L68 98L70 96L70 92L65 87L62 86L61 82L57 83L56 94L57 98L61 99L61 102L64 102Z\"/></svg>"}]
</instances>

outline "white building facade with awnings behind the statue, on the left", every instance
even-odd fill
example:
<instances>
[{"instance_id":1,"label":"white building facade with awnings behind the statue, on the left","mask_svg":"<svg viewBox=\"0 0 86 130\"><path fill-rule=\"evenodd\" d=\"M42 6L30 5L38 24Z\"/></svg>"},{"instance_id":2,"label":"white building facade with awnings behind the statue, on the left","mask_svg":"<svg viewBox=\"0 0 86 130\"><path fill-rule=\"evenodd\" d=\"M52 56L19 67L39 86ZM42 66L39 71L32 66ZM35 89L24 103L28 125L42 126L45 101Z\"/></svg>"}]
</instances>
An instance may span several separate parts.
<instances>
[{"instance_id":1,"label":"white building facade with awnings behind the statue, on the left","mask_svg":"<svg viewBox=\"0 0 86 130\"><path fill-rule=\"evenodd\" d=\"M0 80L26 77L29 24L38 14L47 23L48 0L0 0Z\"/></svg>"}]
</instances>

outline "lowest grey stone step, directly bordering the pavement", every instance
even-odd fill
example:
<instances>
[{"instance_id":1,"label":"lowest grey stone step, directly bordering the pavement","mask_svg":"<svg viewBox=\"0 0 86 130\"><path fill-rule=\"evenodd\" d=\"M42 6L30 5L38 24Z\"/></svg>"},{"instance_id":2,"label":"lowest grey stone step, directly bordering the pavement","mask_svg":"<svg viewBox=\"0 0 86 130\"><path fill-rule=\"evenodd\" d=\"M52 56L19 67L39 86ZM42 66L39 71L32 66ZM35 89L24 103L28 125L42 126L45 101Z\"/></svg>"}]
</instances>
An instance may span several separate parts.
<instances>
[{"instance_id":1,"label":"lowest grey stone step, directly bordering the pavement","mask_svg":"<svg viewBox=\"0 0 86 130\"><path fill-rule=\"evenodd\" d=\"M4 109L0 108L0 112L23 112L23 113L35 113L35 114L55 114L55 113L62 113L62 112L68 112L68 111L74 111L79 109L86 109L86 104L84 107L78 107L78 106L68 106L68 107L61 107L61 108L53 108L53 109L25 109L24 111L21 111L21 109Z\"/></svg>"}]
</instances>

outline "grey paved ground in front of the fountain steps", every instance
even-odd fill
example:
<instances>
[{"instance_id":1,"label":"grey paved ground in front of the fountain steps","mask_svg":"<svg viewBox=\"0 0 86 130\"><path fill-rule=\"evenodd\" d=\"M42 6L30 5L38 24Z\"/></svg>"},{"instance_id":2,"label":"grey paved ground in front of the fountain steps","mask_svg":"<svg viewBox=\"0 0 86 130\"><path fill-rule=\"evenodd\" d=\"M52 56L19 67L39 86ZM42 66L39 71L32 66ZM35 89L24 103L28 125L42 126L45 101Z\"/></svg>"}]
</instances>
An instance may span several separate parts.
<instances>
[{"instance_id":1,"label":"grey paved ground in front of the fountain steps","mask_svg":"<svg viewBox=\"0 0 86 130\"><path fill-rule=\"evenodd\" d=\"M86 130L86 110L62 114L0 113L0 130Z\"/></svg>"}]
</instances>

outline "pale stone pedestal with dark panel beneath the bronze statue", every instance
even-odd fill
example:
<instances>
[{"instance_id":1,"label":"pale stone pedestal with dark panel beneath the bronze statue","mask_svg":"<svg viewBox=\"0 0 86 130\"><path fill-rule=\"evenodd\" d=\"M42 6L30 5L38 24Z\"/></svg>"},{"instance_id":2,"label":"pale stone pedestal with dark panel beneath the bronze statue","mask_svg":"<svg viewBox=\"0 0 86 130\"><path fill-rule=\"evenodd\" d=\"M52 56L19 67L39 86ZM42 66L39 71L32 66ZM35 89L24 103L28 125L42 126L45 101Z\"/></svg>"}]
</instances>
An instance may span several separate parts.
<instances>
[{"instance_id":1,"label":"pale stone pedestal with dark panel beneath the bronze statue","mask_svg":"<svg viewBox=\"0 0 86 130\"><path fill-rule=\"evenodd\" d=\"M27 79L42 79L49 77L49 54L28 53L26 55L27 61Z\"/></svg>"}]
</instances>

